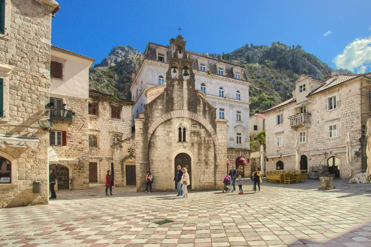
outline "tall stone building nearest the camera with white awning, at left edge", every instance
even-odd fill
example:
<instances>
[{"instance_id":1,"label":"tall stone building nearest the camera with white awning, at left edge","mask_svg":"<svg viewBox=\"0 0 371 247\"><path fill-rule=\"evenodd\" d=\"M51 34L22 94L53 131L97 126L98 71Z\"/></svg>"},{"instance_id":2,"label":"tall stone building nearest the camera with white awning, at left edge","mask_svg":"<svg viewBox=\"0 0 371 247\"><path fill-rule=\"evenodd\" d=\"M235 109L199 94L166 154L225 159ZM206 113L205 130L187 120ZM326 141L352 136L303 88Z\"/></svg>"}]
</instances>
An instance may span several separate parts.
<instances>
[{"instance_id":1,"label":"tall stone building nearest the camera with white awning, at left edge","mask_svg":"<svg viewBox=\"0 0 371 247\"><path fill-rule=\"evenodd\" d=\"M0 1L0 208L48 202L50 36L54 0ZM43 182L33 193L33 181Z\"/></svg>"}]
</instances>

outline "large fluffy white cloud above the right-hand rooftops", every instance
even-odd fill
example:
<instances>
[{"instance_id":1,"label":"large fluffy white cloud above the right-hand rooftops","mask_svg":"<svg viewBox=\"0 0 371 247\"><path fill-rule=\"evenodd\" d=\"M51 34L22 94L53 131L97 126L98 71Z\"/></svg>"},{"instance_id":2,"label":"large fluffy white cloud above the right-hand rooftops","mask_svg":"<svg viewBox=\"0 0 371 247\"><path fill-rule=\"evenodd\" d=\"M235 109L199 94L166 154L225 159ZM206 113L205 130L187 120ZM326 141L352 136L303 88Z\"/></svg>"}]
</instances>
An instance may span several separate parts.
<instances>
[{"instance_id":1,"label":"large fluffy white cloud above the right-hand rooftops","mask_svg":"<svg viewBox=\"0 0 371 247\"><path fill-rule=\"evenodd\" d=\"M334 58L336 67L348 69L357 73L365 73L371 65L371 36L357 38L349 43L341 54Z\"/></svg>"}]
</instances>

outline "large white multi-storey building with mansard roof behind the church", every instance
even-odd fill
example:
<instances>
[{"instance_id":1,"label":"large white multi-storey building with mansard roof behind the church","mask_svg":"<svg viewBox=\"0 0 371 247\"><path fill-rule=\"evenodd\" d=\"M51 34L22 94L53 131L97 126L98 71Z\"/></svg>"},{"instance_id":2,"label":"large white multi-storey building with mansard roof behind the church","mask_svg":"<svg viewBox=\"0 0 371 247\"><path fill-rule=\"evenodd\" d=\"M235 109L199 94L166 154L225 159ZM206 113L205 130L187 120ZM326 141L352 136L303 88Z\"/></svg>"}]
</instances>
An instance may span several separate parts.
<instances>
[{"instance_id":1,"label":"large white multi-storey building with mansard roof behind the church","mask_svg":"<svg viewBox=\"0 0 371 247\"><path fill-rule=\"evenodd\" d=\"M250 170L249 82L244 68L197 53L189 54L193 59L191 67L195 73L195 88L216 108L217 119L228 120L227 157L230 164L239 165L239 173L243 175L244 170ZM167 84L166 73L170 58L169 46L151 42L140 55L130 87L134 101L133 119L144 111L144 106L149 103L152 95L157 96L157 91L162 91L162 87Z\"/></svg>"}]
</instances>

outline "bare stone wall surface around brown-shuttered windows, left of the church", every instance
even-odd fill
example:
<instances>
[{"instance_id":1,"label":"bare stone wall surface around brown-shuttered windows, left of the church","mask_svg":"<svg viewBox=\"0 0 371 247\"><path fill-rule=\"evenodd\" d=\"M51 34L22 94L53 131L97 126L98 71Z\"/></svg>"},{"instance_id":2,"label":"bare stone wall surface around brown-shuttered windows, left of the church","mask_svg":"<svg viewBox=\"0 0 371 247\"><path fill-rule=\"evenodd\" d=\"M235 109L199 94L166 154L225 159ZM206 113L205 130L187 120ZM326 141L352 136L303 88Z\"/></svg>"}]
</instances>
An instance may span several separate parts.
<instances>
[{"instance_id":1,"label":"bare stone wall surface around brown-shuttered windows, left of the church","mask_svg":"<svg viewBox=\"0 0 371 247\"><path fill-rule=\"evenodd\" d=\"M89 103L97 105L97 114L89 114L89 134L98 137L98 147L89 147L89 162L98 164L98 182L105 183L107 170L111 170L114 161L111 147L112 137L124 140L131 136L131 101L114 99L111 95L89 90ZM112 118L111 106L121 109L120 119ZM121 162L121 161L120 161ZM116 185L121 179L118 171L115 171ZM123 175L122 175L123 176Z\"/></svg>"}]
</instances>

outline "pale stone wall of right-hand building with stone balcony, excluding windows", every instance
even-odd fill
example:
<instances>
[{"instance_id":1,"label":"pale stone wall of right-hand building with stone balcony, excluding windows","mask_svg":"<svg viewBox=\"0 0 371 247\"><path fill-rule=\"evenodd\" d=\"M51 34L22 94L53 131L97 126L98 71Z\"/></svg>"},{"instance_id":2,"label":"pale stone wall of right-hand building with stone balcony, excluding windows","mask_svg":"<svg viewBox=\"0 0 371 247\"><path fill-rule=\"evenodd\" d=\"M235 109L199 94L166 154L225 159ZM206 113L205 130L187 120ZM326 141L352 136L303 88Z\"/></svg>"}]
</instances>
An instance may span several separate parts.
<instances>
[{"instance_id":1,"label":"pale stone wall of right-hand building with stone balcony, excluding windows","mask_svg":"<svg viewBox=\"0 0 371 247\"><path fill-rule=\"evenodd\" d=\"M268 158L266 163L267 171L276 170L276 162L278 160L284 162L285 170L295 169L295 141L299 138L299 132L306 130L307 140L305 143L300 144L300 149L301 154L308 158L308 169L312 166L319 166L320 163L324 164L322 158L324 158L326 152L328 157L335 156L340 159L340 177L349 178L345 158L345 137L347 132L349 132L352 138L353 150L360 150L358 141L362 134L360 82L361 79L353 80L333 89L324 90L309 96L307 111L311 113L311 123L308 127L303 126L297 129L290 127L290 122L287 118L296 113L293 107L295 103L267 112L266 156L276 156ZM324 99L334 95L339 97L340 106L332 110L324 110ZM367 98L369 100L369 97ZM366 104L364 107L367 108ZM363 111L367 112L367 109ZM275 117L280 113L283 113L283 123L277 126L275 125ZM328 126L330 124L338 124L338 136L335 138L329 137ZM280 135L283 136L283 147L278 148L276 137ZM354 168L361 169L361 158L355 158Z\"/></svg>"}]
</instances>

